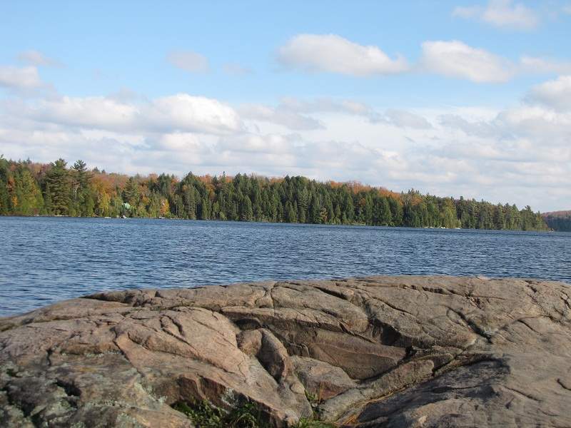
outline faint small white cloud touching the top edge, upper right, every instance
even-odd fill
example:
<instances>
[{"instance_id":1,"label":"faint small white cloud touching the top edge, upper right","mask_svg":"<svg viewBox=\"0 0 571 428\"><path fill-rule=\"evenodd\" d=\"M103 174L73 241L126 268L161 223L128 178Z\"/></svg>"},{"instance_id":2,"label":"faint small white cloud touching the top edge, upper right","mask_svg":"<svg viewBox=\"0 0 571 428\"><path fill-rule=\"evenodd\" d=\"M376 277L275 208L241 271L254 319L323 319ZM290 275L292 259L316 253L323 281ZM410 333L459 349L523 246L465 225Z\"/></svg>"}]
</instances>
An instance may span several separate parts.
<instances>
[{"instance_id":1,"label":"faint small white cloud touching the top edge, upper right","mask_svg":"<svg viewBox=\"0 0 571 428\"><path fill-rule=\"evenodd\" d=\"M485 7L459 6L453 16L465 19L477 19L487 24L507 29L530 30L540 23L535 11L512 0L490 0Z\"/></svg>"}]
</instances>

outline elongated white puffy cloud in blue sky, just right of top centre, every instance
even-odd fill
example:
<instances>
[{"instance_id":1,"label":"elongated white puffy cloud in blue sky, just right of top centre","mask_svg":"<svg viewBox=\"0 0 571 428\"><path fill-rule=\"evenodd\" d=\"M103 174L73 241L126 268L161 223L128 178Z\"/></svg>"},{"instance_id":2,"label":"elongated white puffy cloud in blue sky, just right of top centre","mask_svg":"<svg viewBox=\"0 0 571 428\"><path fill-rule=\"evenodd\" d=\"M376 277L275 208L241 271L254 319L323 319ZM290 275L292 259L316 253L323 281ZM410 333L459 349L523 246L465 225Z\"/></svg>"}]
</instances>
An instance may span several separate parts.
<instances>
[{"instance_id":1,"label":"elongated white puffy cloud in blue sky, just right of top centre","mask_svg":"<svg viewBox=\"0 0 571 428\"><path fill-rule=\"evenodd\" d=\"M335 34L298 34L278 50L278 61L303 71L325 71L348 76L403 73L402 56L390 58L377 46L363 46Z\"/></svg>"}]
</instances>

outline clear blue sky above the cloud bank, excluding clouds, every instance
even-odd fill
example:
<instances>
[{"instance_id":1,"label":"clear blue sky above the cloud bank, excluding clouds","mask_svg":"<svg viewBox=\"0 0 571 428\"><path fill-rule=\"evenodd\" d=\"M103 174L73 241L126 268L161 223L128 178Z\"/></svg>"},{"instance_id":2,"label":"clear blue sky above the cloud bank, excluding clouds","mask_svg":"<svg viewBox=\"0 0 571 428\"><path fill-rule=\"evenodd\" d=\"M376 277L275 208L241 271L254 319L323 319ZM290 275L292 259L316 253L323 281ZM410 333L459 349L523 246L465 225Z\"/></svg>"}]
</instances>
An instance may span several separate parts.
<instances>
[{"instance_id":1,"label":"clear blue sky above the cloud bank, excluding clouds","mask_svg":"<svg viewBox=\"0 0 571 428\"><path fill-rule=\"evenodd\" d=\"M568 15L547 16L533 31L514 31L458 19L451 12L460 4L472 3L13 1L2 8L0 36L12 42L3 44L0 61L11 63L28 49L58 58L66 67L44 70L45 78L70 96L128 87L151 97L178 91L238 102L271 102L280 96L363 96L391 106L396 102L416 107L435 101L504 105L506 96L517 98L541 76L483 88L414 73L357 80L335 74L307 76L285 73L276 51L295 34L338 34L357 44L380 46L391 56L403 54L410 61L420 56L423 41L452 39L514 61L522 54L568 56ZM173 68L165 58L175 50L207 56L211 73L188 76ZM241 64L254 73L228 76L222 70L225 63Z\"/></svg>"}]
</instances>

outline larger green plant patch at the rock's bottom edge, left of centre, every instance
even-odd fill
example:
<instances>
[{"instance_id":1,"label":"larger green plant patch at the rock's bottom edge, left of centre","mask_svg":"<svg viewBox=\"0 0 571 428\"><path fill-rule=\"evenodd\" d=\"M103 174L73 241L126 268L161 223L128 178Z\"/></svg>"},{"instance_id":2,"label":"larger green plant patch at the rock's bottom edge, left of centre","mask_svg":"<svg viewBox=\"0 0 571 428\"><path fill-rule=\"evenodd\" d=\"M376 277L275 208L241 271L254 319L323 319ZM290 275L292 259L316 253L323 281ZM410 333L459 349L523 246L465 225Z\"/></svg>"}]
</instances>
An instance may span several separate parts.
<instances>
[{"instance_id":1,"label":"larger green plant patch at the rock's bottom edge, left of centre","mask_svg":"<svg viewBox=\"0 0 571 428\"><path fill-rule=\"evenodd\" d=\"M213 406L207 400L200 402L178 402L173 409L186 414L197 428L268 428L263 422L263 414L256 404L244 402L230 412Z\"/></svg>"}]
</instances>

